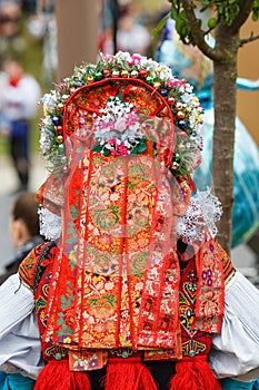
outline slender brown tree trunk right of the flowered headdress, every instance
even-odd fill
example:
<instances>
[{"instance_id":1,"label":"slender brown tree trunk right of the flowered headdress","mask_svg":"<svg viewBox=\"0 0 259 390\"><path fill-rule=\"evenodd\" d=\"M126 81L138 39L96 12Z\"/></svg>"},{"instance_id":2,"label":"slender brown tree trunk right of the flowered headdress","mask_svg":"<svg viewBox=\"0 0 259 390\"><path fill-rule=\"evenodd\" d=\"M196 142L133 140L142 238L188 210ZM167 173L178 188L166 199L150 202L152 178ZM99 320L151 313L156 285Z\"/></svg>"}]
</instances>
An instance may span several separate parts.
<instances>
[{"instance_id":1,"label":"slender brown tree trunk right of the flowered headdress","mask_svg":"<svg viewBox=\"0 0 259 390\"><path fill-rule=\"evenodd\" d=\"M225 48L223 61L215 61L215 130L212 185L223 207L218 224L218 241L230 253L233 204L233 145L236 118L236 79L239 36L220 25L216 30L217 46Z\"/></svg>"}]
</instances>

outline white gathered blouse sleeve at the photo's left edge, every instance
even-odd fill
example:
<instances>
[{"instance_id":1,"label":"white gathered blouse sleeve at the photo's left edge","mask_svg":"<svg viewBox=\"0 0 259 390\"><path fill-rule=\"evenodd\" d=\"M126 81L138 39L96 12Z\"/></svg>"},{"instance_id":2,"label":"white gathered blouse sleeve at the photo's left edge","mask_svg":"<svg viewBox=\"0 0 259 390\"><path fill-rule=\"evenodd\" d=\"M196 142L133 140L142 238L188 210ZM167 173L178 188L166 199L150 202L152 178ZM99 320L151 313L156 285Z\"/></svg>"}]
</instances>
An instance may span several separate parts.
<instances>
[{"instance_id":1,"label":"white gathered blouse sleeve at the photo's left edge","mask_svg":"<svg viewBox=\"0 0 259 390\"><path fill-rule=\"evenodd\" d=\"M32 292L18 274L0 285L0 370L37 379L44 362Z\"/></svg>"}]
</instances>

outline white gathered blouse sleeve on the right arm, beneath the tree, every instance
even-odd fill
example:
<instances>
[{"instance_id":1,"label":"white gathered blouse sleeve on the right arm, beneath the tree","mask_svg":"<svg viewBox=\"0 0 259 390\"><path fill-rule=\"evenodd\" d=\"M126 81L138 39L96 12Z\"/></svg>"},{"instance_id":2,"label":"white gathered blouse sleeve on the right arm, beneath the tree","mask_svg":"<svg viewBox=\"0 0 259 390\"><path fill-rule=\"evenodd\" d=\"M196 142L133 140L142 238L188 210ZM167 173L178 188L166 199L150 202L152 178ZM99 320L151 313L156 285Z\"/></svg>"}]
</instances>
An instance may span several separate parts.
<instances>
[{"instance_id":1,"label":"white gathered blouse sleeve on the right arm, beneath the tree","mask_svg":"<svg viewBox=\"0 0 259 390\"><path fill-rule=\"evenodd\" d=\"M259 377L259 290L239 271L226 284L222 328L209 362L217 378Z\"/></svg>"}]
</instances>

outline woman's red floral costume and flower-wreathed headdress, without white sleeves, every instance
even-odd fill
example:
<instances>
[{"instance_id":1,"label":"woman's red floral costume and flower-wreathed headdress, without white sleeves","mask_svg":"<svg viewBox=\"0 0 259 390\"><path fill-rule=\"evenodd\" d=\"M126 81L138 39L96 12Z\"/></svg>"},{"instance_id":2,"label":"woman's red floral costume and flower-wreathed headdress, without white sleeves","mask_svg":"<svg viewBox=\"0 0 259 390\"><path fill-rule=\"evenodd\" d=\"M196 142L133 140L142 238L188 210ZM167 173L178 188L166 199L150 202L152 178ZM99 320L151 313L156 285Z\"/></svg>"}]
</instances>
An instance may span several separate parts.
<instances>
[{"instance_id":1,"label":"woman's red floral costume and flower-wreathed headdress, without white sleeves","mask_svg":"<svg viewBox=\"0 0 259 390\"><path fill-rule=\"evenodd\" d=\"M217 198L190 198L202 147L192 87L118 52L76 68L43 106L51 241L19 270L46 361L34 389L221 389L208 355L236 273L213 238Z\"/></svg>"}]
</instances>

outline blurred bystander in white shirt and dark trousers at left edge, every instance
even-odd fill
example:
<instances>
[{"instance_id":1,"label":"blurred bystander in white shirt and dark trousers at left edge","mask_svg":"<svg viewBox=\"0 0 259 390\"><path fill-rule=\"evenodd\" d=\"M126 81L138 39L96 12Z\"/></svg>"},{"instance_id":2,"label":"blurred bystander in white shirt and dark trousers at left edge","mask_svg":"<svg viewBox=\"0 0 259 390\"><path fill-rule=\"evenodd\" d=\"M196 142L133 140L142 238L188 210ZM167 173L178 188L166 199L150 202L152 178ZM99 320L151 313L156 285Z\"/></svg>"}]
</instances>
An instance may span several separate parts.
<instances>
[{"instance_id":1,"label":"blurred bystander in white shirt and dark trousers at left edge","mask_svg":"<svg viewBox=\"0 0 259 390\"><path fill-rule=\"evenodd\" d=\"M0 77L0 129L8 137L18 176L16 193L29 187L29 129L37 115L40 86L16 58L3 61Z\"/></svg>"}]
</instances>

